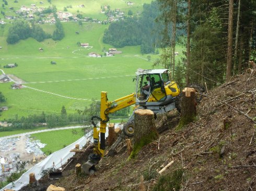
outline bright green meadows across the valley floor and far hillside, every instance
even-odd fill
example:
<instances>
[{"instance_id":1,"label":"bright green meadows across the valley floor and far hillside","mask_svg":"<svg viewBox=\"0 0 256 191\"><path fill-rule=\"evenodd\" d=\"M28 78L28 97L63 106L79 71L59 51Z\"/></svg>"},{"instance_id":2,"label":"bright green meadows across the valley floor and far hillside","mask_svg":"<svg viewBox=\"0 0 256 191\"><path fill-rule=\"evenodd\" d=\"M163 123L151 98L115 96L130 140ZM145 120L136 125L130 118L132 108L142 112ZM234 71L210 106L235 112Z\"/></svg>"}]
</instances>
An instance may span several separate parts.
<instances>
[{"instance_id":1,"label":"bright green meadows across the valley floor and far hillside","mask_svg":"<svg viewBox=\"0 0 256 191\"><path fill-rule=\"evenodd\" d=\"M50 4L43 1L8 1L8 6L14 6L17 10L21 5L48 7ZM120 8L133 12L142 10L143 3L148 0L133 1L135 4L127 6L122 1L54 1L58 10L64 6L72 5L73 13L82 11L84 16L101 16L100 6L110 5L111 9ZM85 8L79 5L84 4ZM78 6L78 7L77 7ZM0 8L1 9L1 8ZM6 8L7 9L7 8ZM6 14L8 15L8 14ZM29 38L21 40L14 45L6 43L9 20L7 24L0 24L0 69L6 74L13 74L25 82L25 88L20 90L11 89L11 84L0 83L0 91L7 98L6 103L0 105L8 106L9 109L1 113L0 120L28 116L30 114L60 113L65 106L67 113L74 113L76 109L84 109L91 104L92 99L99 100L100 92L108 92L109 100L114 100L135 91L133 78L138 68L152 69L155 59L159 55L141 55L139 46L118 48L122 54L113 57L104 57L103 48L107 50L112 46L104 44L102 37L108 24L83 22L79 26L77 22L62 22L65 37L61 41L52 39L43 42ZM41 24L44 31L53 33L55 26L52 24ZM79 34L76 34L79 31ZM89 43L89 48L77 46L77 42ZM43 52L39 51L43 48ZM179 50L178 50L179 51ZM91 58L89 53L95 52L103 55L101 58ZM179 51L181 52L181 51ZM180 57L180 56L178 56ZM56 65L51 65L55 61ZM8 63L17 63L16 68L3 68ZM1 73L1 72L0 72Z\"/></svg>"}]
</instances>

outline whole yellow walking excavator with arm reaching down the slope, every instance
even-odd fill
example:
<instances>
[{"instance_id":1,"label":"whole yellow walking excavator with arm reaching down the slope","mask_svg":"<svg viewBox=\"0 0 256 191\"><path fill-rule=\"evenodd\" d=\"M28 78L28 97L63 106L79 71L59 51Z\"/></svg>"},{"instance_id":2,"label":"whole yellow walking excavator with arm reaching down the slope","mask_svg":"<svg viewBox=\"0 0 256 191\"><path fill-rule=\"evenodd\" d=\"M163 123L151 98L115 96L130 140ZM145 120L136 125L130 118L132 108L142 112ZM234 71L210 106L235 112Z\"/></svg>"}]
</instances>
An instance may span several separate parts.
<instances>
[{"instance_id":1,"label":"whole yellow walking excavator with arm reaching down the slope","mask_svg":"<svg viewBox=\"0 0 256 191\"><path fill-rule=\"evenodd\" d=\"M114 101L109 101L107 92L101 92L100 117L91 118L94 126L94 153L89 155L89 160L82 165L86 174L94 174L95 164L104 156L105 150L105 133L107 122L109 121L109 113L113 113L125 107L135 104L136 109L150 109L155 114L165 113L179 107L180 88L174 81L169 80L168 69L155 70L137 70L136 72L136 93L132 93L125 97L121 97ZM100 127L97 128L94 119L100 120ZM134 133L134 112L130 119L124 125L119 137L133 136ZM118 142L116 142L118 143ZM117 146L114 144L113 147Z\"/></svg>"}]
</instances>

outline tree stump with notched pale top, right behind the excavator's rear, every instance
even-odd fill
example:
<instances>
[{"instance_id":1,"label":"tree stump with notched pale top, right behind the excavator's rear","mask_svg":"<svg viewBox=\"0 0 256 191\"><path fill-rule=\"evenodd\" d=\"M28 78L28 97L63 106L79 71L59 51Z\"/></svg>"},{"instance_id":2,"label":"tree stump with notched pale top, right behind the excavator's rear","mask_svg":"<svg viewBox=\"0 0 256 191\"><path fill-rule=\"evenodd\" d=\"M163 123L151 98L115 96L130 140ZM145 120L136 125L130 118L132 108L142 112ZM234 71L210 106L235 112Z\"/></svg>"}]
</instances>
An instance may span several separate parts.
<instances>
[{"instance_id":1,"label":"tree stump with notched pale top, right behind the excavator's rear","mask_svg":"<svg viewBox=\"0 0 256 191\"><path fill-rule=\"evenodd\" d=\"M194 88L185 87L182 90L180 122L177 130L189 124L196 118L196 95Z\"/></svg>"}]
</instances>

